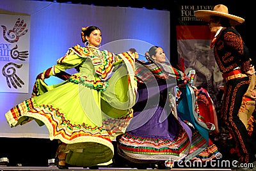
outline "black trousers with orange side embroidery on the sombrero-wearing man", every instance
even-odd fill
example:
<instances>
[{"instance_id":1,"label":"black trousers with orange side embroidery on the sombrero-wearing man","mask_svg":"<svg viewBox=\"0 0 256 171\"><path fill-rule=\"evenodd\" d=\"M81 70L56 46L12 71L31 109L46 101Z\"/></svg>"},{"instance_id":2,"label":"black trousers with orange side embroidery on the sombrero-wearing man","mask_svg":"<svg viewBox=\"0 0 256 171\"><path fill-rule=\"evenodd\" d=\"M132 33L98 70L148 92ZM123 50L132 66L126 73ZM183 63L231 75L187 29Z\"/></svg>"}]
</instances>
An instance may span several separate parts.
<instances>
[{"instance_id":1,"label":"black trousers with orange side embroidery on the sombrero-wearing man","mask_svg":"<svg viewBox=\"0 0 256 171\"><path fill-rule=\"evenodd\" d=\"M228 131L236 141L241 158L241 163L252 163L255 159L255 142L248 135L248 131L243 122L239 119L238 112L243 101L243 95L246 93L250 80L248 77L235 78L225 83L223 97L222 116Z\"/></svg>"}]
</instances>

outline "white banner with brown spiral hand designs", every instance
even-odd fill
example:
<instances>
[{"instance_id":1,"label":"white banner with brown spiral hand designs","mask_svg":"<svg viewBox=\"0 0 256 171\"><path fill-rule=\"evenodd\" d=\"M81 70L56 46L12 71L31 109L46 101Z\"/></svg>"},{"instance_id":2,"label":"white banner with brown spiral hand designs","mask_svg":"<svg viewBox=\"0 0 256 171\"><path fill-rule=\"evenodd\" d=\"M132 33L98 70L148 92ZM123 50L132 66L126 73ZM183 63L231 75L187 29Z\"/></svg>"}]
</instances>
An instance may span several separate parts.
<instances>
[{"instance_id":1,"label":"white banner with brown spiral hand designs","mask_svg":"<svg viewBox=\"0 0 256 171\"><path fill-rule=\"evenodd\" d=\"M30 15L0 11L0 92L28 93Z\"/></svg>"}]
</instances>

